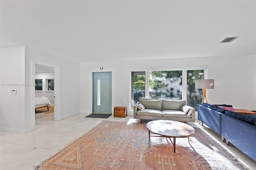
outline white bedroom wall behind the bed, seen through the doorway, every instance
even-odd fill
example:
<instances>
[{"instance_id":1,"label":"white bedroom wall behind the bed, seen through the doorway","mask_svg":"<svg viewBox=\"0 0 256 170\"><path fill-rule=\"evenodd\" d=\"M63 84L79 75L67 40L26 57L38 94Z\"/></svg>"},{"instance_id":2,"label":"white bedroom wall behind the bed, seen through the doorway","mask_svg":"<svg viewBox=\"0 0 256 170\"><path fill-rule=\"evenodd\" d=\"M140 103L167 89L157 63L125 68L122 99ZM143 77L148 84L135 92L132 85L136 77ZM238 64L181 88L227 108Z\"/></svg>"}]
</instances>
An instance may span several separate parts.
<instances>
[{"instance_id":1,"label":"white bedroom wall behind the bed, seen through the doorway","mask_svg":"<svg viewBox=\"0 0 256 170\"><path fill-rule=\"evenodd\" d=\"M43 80L43 88L42 91L36 91L36 96L44 96L48 97L51 104L54 105L54 91L48 91L46 84L46 79L54 79L54 73L35 73L35 79L42 79Z\"/></svg>"}]
</instances>

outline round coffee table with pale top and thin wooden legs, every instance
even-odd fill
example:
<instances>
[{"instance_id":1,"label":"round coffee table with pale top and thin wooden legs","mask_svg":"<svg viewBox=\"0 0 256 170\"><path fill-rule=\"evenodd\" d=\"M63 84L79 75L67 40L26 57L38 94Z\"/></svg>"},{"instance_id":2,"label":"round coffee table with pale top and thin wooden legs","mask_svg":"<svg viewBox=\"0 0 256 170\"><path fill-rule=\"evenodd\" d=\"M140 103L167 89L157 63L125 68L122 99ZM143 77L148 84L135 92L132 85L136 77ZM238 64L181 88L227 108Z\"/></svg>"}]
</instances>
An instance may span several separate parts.
<instances>
[{"instance_id":1,"label":"round coffee table with pale top and thin wooden legs","mask_svg":"<svg viewBox=\"0 0 256 170\"><path fill-rule=\"evenodd\" d=\"M195 133L195 129L185 123L177 122L177 121L169 121L169 120L155 120L150 121L146 124L148 128L148 138L150 140L150 132L154 134L158 134L156 137L165 137L165 138L173 138L173 147L175 153L176 147L176 138L185 138L192 136Z\"/></svg>"}]
</instances>

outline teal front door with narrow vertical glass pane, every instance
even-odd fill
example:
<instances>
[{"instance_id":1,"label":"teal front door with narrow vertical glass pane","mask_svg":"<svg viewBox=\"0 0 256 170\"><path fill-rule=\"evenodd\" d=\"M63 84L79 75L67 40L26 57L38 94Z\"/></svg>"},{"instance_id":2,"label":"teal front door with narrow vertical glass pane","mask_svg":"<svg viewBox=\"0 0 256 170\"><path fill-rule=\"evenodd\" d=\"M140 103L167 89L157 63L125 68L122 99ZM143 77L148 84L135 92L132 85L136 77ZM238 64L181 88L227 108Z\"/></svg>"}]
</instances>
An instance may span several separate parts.
<instances>
[{"instance_id":1,"label":"teal front door with narrow vertical glass pane","mask_svg":"<svg viewBox=\"0 0 256 170\"><path fill-rule=\"evenodd\" d=\"M112 72L92 73L93 113L112 113Z\"/></svg>"}]
</instances>

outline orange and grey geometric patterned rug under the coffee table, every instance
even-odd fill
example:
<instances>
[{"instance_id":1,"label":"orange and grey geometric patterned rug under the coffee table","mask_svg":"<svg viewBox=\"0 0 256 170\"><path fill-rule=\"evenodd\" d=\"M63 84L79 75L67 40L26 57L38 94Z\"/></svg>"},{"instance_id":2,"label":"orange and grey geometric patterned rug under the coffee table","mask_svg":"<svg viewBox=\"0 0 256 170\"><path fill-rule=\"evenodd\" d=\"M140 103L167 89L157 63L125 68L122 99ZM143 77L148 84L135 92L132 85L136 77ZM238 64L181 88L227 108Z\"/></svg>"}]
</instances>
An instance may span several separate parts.
<instances>
[{"instance_id":1,"label":"orange and grey geometric patterned rug under the coffee table","mask_svg":"<svg viewBox=\"0 0 256 170\"><path fill-rule=\"evenodd\" d=\"M243 167L210 134L151 137L145 124L103 121L46 160L40 170L240 170Z\"/></svg>"}]
</instances>

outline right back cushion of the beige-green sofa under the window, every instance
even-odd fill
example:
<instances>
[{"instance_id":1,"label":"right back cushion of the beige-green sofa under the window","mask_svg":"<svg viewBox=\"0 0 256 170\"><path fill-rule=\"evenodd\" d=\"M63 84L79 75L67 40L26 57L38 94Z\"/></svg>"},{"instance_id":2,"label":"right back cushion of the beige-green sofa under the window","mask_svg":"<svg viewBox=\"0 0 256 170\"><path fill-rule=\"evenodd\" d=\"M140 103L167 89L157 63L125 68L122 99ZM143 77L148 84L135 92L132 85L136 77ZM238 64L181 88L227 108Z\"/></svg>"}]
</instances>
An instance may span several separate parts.
<instances>
[{"instance_id":1,"label":"right back cushion of the beige-green sofa under the window","mask_svg":"<svg viewBox=\"0 0 256 170\"><path fill-rule=\"evenodd\" d=\"M162 100L162 110L178 110L180 111L182 106L186 105L185 100Z\"/></svg>"}]
</instances>

